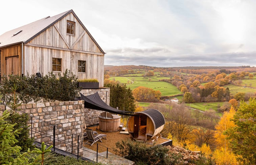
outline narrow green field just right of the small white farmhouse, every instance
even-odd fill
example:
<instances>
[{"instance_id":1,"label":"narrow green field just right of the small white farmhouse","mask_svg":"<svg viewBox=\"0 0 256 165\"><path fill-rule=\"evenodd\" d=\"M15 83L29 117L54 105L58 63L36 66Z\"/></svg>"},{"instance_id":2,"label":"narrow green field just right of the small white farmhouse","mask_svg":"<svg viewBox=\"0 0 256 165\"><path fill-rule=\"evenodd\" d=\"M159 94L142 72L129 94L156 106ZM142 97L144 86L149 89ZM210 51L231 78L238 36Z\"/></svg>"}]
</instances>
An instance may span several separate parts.
<instances>
[{"instance_id":1,"label":"narrow green field just right of the small white farmhouse","mask_svg":"<svg viewBox=\"0 0 256 165\"><path fill-rule=\"evenodd\" d=\"M219 106L222 106L224 102L211 102L211 103L187 103L187 106L190 106L192 108L199 109L201 111L214 109L215 111Z\"/></svg>"}]
</instances>

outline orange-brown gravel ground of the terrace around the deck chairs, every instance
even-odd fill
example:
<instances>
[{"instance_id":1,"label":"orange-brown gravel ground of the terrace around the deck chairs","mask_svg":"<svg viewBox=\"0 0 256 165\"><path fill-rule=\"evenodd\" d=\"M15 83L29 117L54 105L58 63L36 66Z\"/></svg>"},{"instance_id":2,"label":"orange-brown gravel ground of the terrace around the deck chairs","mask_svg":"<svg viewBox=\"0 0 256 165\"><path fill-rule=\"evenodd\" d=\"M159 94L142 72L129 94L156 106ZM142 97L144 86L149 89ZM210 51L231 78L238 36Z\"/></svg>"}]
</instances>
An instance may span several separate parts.
<instances>
[{"instance_id":1,"label":"orange-brown gravel ground of the terrace around the deck chairs","mask_svg":"<svg viewBox=\"0 0 256 165\"><path fill-rule=\"evenodd\" d=\"M89 128L89 127L87 127L87 128ZM93 131L97 131L99 134L107 135L107 140L106 139L102 139L102 143L100 141L97 141L96 143L108 147L109 148L109 152L111 152L113 154L115 153L113 151L113 149L116 148L116 142L118 142L118 141L121 142L121 140L125 141L125 140L128 140L128 139L131 139L129 134L120 134L119 131L117 131L117 132L101 132L99 130L99 127L98 127L98 130L96 130L96 128L97 128L97 126L90 127L90 129L92 129ZM125 131L127 131L127 129ZM97 150L97 144L96 143L94 143L92 146L90 146L88 144L85 144L86 141L87 140L84 140L84 144L83 144L86 148L92 149L94 151ZM155 145L161 144L161 143L163 143L165 141L167 141L167 140L159 138L158 141L156 141ZM102 153L102 152L107 150L106 147L103 147L101 145L98 145L98 152L99 153ZM149 145L149 146L152 146L152 145Z\"/></svg>"}]
</instances>

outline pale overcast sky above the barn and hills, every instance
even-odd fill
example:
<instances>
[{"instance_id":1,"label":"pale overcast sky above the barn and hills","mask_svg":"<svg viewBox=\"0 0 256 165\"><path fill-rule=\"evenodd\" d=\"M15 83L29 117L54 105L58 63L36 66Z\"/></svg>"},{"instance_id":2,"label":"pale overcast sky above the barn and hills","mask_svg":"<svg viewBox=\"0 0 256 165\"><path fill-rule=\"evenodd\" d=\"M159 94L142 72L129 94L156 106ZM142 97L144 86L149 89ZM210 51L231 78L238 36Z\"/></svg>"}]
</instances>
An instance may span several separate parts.
<instances>
[{"instance_id":1,"label":"pale overcast sky above the barn and hills","mask_svg":"<svg viewBox=\"0 0 256 165\"><path fill-rule=\"evenodd\" d=\"M256 66L255 0L0 0L0 34L73 9L105 65Z\"/></svg>"}]
</instances>

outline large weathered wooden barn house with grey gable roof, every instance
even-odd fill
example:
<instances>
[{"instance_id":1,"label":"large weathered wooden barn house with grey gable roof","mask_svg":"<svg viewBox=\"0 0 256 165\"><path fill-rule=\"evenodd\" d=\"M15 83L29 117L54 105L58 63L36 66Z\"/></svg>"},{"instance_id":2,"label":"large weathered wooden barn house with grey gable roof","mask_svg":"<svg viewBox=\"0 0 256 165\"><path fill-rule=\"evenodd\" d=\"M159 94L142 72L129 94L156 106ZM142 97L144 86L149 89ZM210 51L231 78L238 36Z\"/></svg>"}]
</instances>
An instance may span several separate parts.
<instances>
[{"instance_id":1,"label":"large weathered wooden barn house with grey gable roof","mask_svg":"<svg viewBox=\"0 0 256 165\"><path fill-rule=\"evenodd\" d=\"M0 36L1 76L68 69L78 79L97 79L103 87L104 54L73 10Z\"/></svg>"}]
</instances>

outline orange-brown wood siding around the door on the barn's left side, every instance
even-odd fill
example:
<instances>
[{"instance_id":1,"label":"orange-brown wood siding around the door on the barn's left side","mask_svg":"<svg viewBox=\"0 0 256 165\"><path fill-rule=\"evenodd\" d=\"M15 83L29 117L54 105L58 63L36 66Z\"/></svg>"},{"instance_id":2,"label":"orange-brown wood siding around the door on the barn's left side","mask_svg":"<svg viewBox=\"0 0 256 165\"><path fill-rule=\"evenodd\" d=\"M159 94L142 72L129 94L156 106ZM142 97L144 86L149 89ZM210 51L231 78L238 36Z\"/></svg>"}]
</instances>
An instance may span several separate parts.
<instances>
[{"instance_id":1,"label":"orange-brown wood siding around the door on the barn's left side","mask_svg":"<svg viewBox=\"0 0 256 165\"><path fill-rule=\"evenodd\" d=\"M1 49L1 77L5 74L5 57L19 56L19 75L21 75L21 44Z\"/></svg>"}]
</instances>

